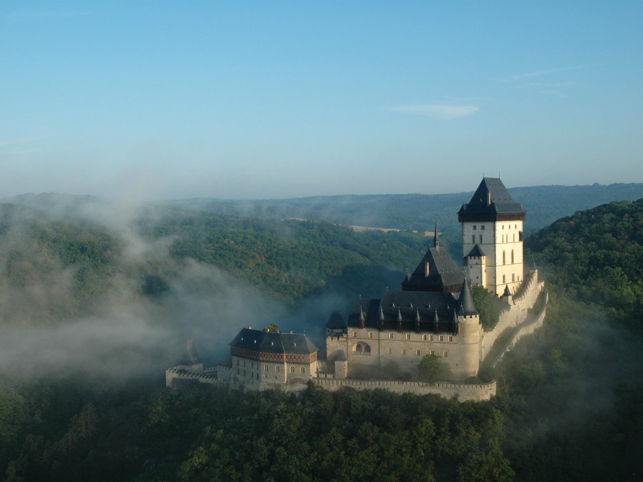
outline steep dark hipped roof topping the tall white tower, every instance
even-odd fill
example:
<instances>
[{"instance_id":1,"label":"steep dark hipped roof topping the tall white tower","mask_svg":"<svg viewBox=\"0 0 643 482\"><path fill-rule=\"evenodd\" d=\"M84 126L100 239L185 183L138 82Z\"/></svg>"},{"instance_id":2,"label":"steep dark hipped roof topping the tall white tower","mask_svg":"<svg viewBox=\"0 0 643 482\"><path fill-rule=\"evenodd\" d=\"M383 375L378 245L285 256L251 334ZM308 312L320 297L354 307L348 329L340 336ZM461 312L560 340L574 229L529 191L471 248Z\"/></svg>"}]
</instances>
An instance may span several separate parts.
<instances>
[{"instance_id":1,"label":"steep dark hipped roof topping the tall white tower","mask_svg":"<svg viewBox=\"0 0 643 482\"><path fill-rule=\"evenodd\" d=\"M458 221L514 219L524 220L525 210L498 177L484 177L469 204L458 211Z\"/></svg>"}]
</instances>

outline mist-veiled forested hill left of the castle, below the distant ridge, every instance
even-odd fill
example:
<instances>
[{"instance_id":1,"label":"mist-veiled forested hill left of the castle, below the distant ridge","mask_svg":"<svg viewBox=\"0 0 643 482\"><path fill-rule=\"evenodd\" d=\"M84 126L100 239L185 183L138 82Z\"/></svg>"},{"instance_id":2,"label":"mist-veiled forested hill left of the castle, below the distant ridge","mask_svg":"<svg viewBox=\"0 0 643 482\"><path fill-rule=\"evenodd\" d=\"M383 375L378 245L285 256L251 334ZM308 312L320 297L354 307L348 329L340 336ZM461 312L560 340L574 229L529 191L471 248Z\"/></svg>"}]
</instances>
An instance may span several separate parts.
<instances>
[{"instance_id":1,"label":"mist-veiled forested hill left of the castle, below the distant ridge","mask_svg":"<svg viewBox=\"0 0 643 482\"><path fill-rule=\"evenodd\" d=\"M0 204L0 324L87 316L114 294L163 301L186 284L204 294L243 286L287 305L314 294L378 296L399 286L430 243L327 222L170 206L120 212L95 199L45 197L55 209L31 207L38 197L30 206ZM188 279L192 262L228 278Z\"/></svg>"}]
</instances>

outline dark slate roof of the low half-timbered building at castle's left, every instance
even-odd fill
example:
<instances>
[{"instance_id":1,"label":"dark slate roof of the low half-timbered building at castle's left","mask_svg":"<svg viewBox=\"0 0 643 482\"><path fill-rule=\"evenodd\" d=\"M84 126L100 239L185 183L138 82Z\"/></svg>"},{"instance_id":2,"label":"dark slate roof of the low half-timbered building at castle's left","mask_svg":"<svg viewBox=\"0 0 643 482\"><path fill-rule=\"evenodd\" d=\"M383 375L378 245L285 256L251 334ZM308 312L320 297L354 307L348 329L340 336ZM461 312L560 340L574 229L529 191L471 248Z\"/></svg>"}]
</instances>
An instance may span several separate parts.
<instances>
[{"instance_id":1,"label":"dark slate roof of the low half-timbered building at castle's left","mask_svg":"<svg viewBox=\"0 0 643 482\"><path fill-rule=\"evenodd\" d=\"M271 353L314 353L319 350L310 339L298 333L275 333L242 328L230 346Z\"/></svg>"}]
</instances>

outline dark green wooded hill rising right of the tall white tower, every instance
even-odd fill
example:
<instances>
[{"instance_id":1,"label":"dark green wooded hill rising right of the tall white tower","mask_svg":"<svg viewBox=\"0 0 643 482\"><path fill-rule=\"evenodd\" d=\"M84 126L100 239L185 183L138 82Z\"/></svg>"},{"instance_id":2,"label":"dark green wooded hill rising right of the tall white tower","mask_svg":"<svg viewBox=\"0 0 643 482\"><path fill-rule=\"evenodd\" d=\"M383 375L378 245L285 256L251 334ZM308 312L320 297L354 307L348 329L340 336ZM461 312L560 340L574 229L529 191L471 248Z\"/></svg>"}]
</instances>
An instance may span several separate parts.
<instances>
[{"instance_id":1,"label":"dark green wooded hill rising right of the tall white tower","mask_svg":"<svg viewBox=\"0 0 643 482\"><path fill-rule=\"evenodd\" d=\"M643 330L643 199L559 219L530 237L527 248L559 289Z\"/></svg>"}]
</instances>

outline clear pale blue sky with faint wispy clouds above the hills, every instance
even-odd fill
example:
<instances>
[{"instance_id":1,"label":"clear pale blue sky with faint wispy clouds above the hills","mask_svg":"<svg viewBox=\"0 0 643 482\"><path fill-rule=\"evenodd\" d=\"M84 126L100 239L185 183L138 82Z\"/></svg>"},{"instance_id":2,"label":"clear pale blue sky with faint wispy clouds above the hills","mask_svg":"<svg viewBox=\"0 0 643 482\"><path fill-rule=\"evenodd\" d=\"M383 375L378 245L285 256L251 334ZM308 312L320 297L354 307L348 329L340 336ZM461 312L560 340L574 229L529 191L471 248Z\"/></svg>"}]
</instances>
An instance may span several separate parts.
<instances>
[{"instance_id":1,"label":"clear pale blue sky with faint wispy clouds above the hills","mask_svg":"<svg viewBox=\"0 0 643 482\"><path fill-rule=\"evenodd\" d=\"M643 2L0 3L0 197L643 182Z\"/></svg>"}]
</instances>

